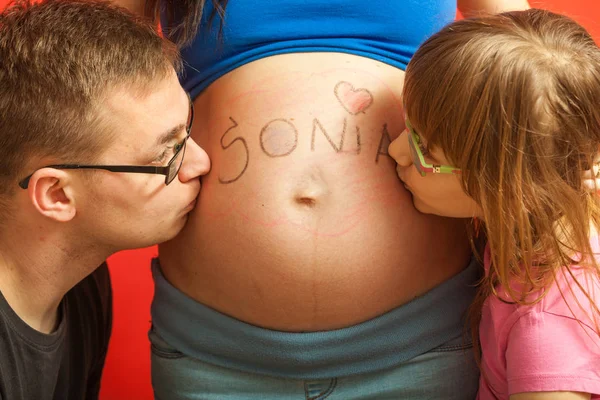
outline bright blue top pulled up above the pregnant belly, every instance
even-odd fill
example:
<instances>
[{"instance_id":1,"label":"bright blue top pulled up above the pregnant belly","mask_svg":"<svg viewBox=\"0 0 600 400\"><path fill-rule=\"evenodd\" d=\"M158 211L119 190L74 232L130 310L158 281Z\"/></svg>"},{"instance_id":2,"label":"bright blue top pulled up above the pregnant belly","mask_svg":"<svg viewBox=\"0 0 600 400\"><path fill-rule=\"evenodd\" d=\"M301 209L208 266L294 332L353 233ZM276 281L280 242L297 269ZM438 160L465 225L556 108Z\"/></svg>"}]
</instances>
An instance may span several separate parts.
<instances>
[{"instance_id":1,"label":"bright blue top pulled up above the pregnant belly","mask_svg":"<svg viewBox=\"0 0 600 400\"><path fill-rule=\"evenodd\" d=\"M356 54L405 69L419 45L452 22L456 0L230 0L219 20L207 1L194 42L182 49L182 84L196 97L246 63L283 53Z\"/></svg>"}]
</instances>

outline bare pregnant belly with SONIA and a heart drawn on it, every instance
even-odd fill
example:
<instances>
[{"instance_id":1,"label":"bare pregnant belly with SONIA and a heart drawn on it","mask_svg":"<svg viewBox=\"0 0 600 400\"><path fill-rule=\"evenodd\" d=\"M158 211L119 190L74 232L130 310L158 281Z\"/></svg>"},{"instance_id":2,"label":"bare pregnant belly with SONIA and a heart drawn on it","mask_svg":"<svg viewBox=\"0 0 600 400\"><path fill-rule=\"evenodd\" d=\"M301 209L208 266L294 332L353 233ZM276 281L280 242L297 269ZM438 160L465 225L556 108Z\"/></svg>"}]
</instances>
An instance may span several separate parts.
<instances>
[{"instance_id":1,"label":"bare pregnant belly with SONIA and a heart drawn on it","mask_svg":"<svg viewBox=\"0 0 600 400\"><path fill-rule=\"evenodd\" d=\"M387 153L403 72L344 54L245 65L195 101L208 152L197 208L160 246L195 300L284 331L349 326L464 268L463 221L418 213Z\"/></svg>"}]
</instances>

